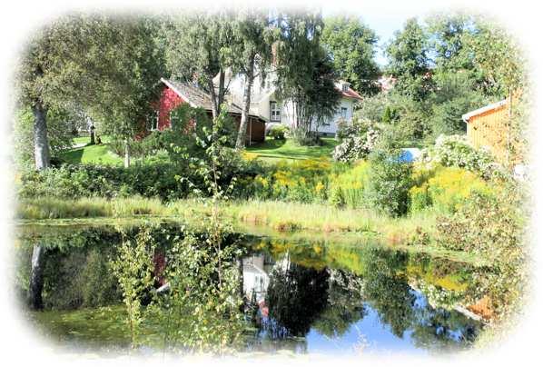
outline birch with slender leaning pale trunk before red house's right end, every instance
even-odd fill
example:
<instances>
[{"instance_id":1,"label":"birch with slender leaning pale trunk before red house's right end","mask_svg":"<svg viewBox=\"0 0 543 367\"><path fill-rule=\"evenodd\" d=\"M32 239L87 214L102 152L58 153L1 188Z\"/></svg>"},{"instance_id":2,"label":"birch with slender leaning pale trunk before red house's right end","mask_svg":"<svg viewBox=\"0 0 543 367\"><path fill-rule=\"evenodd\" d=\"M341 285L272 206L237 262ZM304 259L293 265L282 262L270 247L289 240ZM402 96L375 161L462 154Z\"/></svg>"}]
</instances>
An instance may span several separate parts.
<instances>
[{"instance_id":1,"label":"birch with slender leaning pale trunk before red house's right end","mask_svg":"<svg viewBox=\"0 0 543 367\"><path fill-rule=\"evenodd\" d=\"M239 51L236 50L235 54L240 55L234 70L238 69L244 76L242 120L236 140L238 149L245 146L254 78L261 74L261 80L264 81L271 64L273 35L269 25L270 20L265 12L246 9L241 12L233 26L239 46Z\"/></svg>"}]
</instances>

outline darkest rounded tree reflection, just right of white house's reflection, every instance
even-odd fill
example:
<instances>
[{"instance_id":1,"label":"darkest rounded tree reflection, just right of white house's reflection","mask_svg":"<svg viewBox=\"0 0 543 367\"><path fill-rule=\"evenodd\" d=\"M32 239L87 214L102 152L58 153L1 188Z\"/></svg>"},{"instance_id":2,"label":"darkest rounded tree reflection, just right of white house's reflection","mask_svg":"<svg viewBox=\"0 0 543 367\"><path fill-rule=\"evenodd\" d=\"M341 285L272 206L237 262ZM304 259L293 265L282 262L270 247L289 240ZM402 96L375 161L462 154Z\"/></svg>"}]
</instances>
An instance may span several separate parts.
<instances>
[{"instance_id":1,"label":"darkest rounded tree reflection, just right of white house's reflection","mask_svg":"<svg viewBox=\"0 0 543 367\"><path fill-rule=\"evenodd\" d=\"M276 266L271 272L266 303L270 309L268 332L273 337L305 336L326 306L326 270L317 271L295 263Z\"/></svg>"}]
</instances>

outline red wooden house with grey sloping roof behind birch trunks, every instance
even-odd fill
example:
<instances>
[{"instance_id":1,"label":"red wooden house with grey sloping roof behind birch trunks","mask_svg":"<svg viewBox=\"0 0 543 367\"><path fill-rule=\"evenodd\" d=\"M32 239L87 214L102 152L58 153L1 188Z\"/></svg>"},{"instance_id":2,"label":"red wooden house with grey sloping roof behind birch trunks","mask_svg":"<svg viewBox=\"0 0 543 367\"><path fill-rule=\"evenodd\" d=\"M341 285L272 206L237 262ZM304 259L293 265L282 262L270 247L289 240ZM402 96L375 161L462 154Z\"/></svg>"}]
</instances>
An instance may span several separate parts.
<instances>
[{"instance_id":1,"label":"red wooden house with grey sloping roof behind birch trunks","mask_svg":"<svg viewBox=\"0 0 543 367\"><path fill-rule=\"evenodd\" d=\"M148 126L149 130L164 130L172 126L171 113L180 104L190 104L193 107L202 107L212 115L211 96L199 87L190 83L176 82L162 78L163 89L160 99L153 103L154 116ZM240 126L242 108L237 104L228 104L228 114L232 116L236 126ZM263 142L265 138L265 122L257 115L250 115L247 123L246 141L249 144Z\"/></svg>"}]
</instances>

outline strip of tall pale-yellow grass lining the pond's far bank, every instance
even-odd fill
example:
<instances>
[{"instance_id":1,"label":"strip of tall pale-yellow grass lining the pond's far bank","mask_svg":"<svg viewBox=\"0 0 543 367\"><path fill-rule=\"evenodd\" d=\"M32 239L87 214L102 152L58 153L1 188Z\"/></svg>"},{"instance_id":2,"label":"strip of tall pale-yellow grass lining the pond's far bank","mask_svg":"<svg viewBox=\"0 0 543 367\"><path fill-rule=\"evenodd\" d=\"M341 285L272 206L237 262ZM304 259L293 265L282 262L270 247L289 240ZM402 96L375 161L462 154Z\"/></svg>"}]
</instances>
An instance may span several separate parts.
<instances>
[{"instance_id":1,"label":"strip of tall pale-yellow grass lining the pond's far bank","mask_svg":"<svg viewBox=\"0 0 543 367\"><path fill-rule=\"evenodd\" d=\"M193 200L161 203L142 197L81 198L64 200L37 198L22 200L16 217L22 220L67 218L129 218L142 215L180 217L203 222L211 207ZM390 243L401 243L417 228L429 229L434 217L420 214L407 218L388 218L363 209L336 208L318 203L232 202L222 204L224 219L238 223L269 227L278 232L309 231L313 233L374 233L384 235Z\"/></svg>"}]
</instances>

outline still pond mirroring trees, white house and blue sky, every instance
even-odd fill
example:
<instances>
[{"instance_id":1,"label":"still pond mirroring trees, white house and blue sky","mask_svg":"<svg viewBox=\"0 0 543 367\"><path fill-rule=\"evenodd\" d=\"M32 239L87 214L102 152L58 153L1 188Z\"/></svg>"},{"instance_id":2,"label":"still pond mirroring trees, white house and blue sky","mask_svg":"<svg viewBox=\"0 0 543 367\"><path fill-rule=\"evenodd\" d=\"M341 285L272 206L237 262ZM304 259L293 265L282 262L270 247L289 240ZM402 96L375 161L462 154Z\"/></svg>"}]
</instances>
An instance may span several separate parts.
<instances>
[{"instance_id":1,"label":"still pond mirroring trees, white house and blue sky","mask_svg":"<svg viewBox=\"0 0 543 367\"><path fill-rule=\"evenodd\" d=\"M180 228L164 223L154 240L167 247ZM22 300L33 244L46 249L44 311L25 309L29 325L61 349L129 350L122 294L108 263L132 234L107 225L21 227L15 278ZM456 352L485 327L470 296L480 269L469 263L363 240L244 235L237 245L243 252L232 263L244 299L238 352ZM160 325L151 319L142 330L139 350L160 350Z\"/></svg>"}]
</instances>

